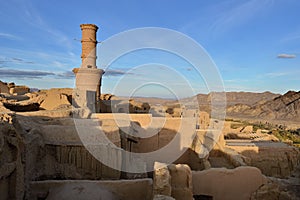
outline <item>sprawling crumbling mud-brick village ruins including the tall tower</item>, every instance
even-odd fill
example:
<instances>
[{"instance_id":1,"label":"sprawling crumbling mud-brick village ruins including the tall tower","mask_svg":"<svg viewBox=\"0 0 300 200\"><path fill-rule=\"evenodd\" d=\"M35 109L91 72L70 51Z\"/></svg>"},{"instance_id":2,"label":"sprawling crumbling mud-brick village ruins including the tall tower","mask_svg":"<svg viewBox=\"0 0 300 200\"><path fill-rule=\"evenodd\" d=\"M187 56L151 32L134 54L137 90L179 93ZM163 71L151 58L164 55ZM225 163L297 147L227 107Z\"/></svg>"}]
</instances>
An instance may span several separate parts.
<instances>
[{"instance_id":1,"label":"sprawling crumbling mud-brick village ruins including the tall tower","mask_svg":"<svg viewBox=\"0 0 300 200\"><path fill-rule=\"evenodd\" d=\"M228 121L216 140L211 133L218 119L208 112L174 107L154 115L147 102L101 94L105 72L96 65L98 27L80 28L82 64L73 69L74 91L34 93L0 82L0 199L297 199L278 180L295 181L299 149ZM197 121L182 128L184 115ZM142 137L156 127L157 134ZM89 134L98 141L99 130L107 138L98 155L106 157L104 163L82 139ZM124 156L160 150L178 134L194 137L189 145L176 140L183 153L172 163Z\"/></svg>"}]
</instances>

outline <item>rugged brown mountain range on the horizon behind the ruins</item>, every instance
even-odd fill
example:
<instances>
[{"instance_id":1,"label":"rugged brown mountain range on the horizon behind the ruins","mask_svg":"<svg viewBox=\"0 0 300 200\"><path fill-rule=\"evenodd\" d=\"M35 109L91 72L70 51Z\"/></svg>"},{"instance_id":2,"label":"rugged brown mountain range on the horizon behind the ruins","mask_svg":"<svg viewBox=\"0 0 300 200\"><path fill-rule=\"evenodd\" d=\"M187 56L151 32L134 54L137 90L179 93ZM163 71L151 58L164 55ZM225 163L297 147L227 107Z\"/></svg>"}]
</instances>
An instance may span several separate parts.
<instances>
[{"instance_id":1,"label":"rugged brown mountain range on the horizon behind the ruins","mask_svg":"<svg viewBox=\"0 0 300 200\"><path fill-rule=\"evenodd\" d=\"M223 101L218 94L198 94L194 97L181 99L184 104L199 103L200 110L210 112L211 98ZM221 96L221 95L220 95ZM138 98L140 101L155 104L172 105L178 101L160 98ZM271 92L226 92L227 117L265 120L284 120L300 123L300 91L289 91L284 95Z\"/></svg>"}]
</instances>

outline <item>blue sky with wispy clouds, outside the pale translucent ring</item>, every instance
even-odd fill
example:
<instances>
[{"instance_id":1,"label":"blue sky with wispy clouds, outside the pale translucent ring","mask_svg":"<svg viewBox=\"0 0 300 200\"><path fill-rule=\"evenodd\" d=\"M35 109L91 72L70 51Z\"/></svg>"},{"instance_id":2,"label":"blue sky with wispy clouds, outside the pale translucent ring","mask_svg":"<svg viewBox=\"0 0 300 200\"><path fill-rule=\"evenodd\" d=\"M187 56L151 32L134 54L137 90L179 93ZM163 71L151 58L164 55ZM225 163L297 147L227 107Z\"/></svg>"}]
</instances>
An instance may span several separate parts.
<instances>
[{"instance_id":1,"label":"blue sky with wispy clouds, outside the pale translucent ring","mask_svg":"<svg viewBox=\"0 0 300 200\"><path fill-rule=\"evenodd\" d=\"M208 52L226 91L285 93L300 89L298 0L0 1L0 80L5 82L37 88L73 87L71 70L81 63L79 25L94 23L100 28L99 41L142 27L186 34ZM209 92L203 77L190 73L187 62L150 50L133 52L110 66L102 92L126 94L123 84L113 90L116 83L126 74L131 75L126 82L143 79L146 74L142 73L152 76L151 66L139 74L130 71L149 63L169 65L183 74L195 93ZM98 66L102 66L99 60ZM153 67L157 68L154 74L163 73L158 65ZM136 95L172 96L154 88L141 89ZM190 95L180 90L179 96Z\"/></svg>"}]
</instances>

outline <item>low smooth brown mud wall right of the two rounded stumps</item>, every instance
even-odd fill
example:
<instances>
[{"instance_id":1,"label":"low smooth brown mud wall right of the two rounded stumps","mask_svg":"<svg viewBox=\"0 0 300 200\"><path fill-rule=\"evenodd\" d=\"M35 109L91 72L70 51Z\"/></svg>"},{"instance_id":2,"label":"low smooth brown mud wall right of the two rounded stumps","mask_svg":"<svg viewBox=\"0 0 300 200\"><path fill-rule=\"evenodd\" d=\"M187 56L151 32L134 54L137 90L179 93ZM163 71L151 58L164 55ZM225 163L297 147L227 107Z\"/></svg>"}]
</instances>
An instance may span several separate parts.
<instances>
[{"instance_id":1,"label":"low smooth brown mud wall right of the two rounded stumps","mask_svg":"<svg viewBox=\"0 0 300 200\"><path fill-rule=\"evenodd\" d=\"M249 200L266 179L255 167L192 171L193 194L214 200Z\"/></svg>"}]
</instances>

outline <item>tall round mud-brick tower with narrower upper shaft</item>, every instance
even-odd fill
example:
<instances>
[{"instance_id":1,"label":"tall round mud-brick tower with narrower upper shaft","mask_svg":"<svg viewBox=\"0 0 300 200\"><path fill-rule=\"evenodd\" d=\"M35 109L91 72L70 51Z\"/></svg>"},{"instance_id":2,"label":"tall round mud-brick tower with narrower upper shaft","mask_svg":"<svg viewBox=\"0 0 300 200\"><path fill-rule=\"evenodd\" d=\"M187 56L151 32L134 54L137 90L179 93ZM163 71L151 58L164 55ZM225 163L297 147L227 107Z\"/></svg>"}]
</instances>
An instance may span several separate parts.
<instances>
[{"instance_id":1,"label":"tall round mud-brick tower with narrower upper shaft","mask_svg":"<svg viewBox=\"0 0 300 200\"><path fill-rule=\"evenodd\" d=\"M100 87L104 71L97 69L97 39L98 27L94 24L81 24L82 54L80 68L73 69L76 74L75 101L79 107L88 107L92 112L99 112Z\"/></svg>"}]
</instances>

